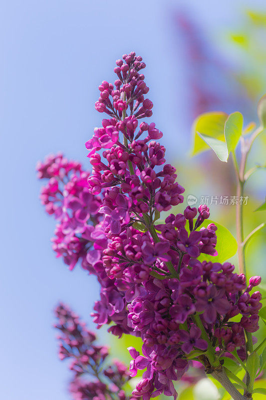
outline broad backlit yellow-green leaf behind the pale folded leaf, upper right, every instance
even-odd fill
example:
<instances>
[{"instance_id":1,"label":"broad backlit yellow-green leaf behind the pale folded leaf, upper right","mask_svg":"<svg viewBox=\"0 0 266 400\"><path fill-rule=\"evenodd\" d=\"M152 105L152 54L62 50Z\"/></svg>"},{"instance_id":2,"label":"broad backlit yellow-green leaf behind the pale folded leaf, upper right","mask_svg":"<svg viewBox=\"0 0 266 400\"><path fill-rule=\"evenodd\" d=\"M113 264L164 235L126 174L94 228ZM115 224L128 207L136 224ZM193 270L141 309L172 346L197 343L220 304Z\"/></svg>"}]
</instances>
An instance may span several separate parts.
<instances>
[{"instance_id":1,"label":"broad backlit yellow-green leaf behind the pale folded leaf, upper right","mask_svg":"<svg viewBox=\"0 0 266 400\"><path fill-rule=\"evenodd\" d=\"M202 151L209 149L209 145L197 134L197 132L215 137L216 139L225 142L224 127L227 117L228 114L225 112L206 112L195 119L193 124L194 143L192 155L199 154Z\"/></svg>"}]
</instances>

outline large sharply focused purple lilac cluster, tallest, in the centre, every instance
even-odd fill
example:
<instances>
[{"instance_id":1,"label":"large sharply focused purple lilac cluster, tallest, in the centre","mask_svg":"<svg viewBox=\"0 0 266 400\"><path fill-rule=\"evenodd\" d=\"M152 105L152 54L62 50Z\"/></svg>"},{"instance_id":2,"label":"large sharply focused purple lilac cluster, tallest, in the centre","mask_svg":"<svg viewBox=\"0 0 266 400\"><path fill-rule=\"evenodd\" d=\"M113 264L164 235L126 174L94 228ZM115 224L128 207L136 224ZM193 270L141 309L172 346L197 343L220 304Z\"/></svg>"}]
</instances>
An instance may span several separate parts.
<instances>
[{"instance_id":1,"label":"large sharply focused purple lilac cluster, tallest, in the centre","mask_svg":"<svg viewBox=\"0 0 266 400\"><path fill-rule=\"evenodd\" d=\"M235 273L230 262L197 259L200 254L217 255L217 226L202 226L210 216L206 205L188 206L156 222L161 211L183 202L184 188L176 182L176 169L165 163L164 146L156 141L162 132L154 123L139 124L152 114L139 72L145 64L134 52L116 64L115 89L103 81L95 105L109 119L103 119L86 143L92 174L76 191L76 181L83 182L85 172L81 167L74 170L65 183L73 192L63 189L63 199L54 190L56 200L62 199L56 217L59 229L66 236L74 233L80 246L72 262L69 252L63 254L65 262L72 266L81 258L83 268L101 284L92 314L98 327L112 322L113 334L131 333L143 340L143 355L129 348L131 376L145 369L133 395L149 400L164 393L176 399L173 381L182 378L195 354L206 359L210 343L217 362L235 349L246 357L245 330L259 328L261 294L253 288L261 278L253 277L247 285L245 275ZM53 166L49 175L52 163L46 164L38 167L40 177L49 177L48 186L53 186L58 177L52 173L58 168ZM74 183L72 176L78 176ZM46 209L57 210L54 196L44 194Z\"/></svg>"}]
</instances>

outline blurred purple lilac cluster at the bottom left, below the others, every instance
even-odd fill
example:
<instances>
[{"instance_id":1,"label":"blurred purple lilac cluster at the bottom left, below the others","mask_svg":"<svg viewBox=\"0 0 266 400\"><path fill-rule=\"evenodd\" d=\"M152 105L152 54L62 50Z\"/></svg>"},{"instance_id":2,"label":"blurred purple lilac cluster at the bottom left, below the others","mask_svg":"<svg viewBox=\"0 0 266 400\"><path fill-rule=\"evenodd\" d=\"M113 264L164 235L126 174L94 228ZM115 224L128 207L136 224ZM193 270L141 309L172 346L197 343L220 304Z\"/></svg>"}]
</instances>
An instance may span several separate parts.
<instances>
[{"instance_id":1,"label":"blurred purple lilac cluster at the bottom left, below the others","mask_svg":"<svg viewBox=\"0 0 266 400\"><path fill-rule=\"evenodd\" d=\"M63 303L55 308L55 315L55 327L60 330L59 358L71 360L73 378L69 389L73 399L137 400L123 390L130 379L127 366L118 360L107 362L108 348L95 343L95 334L78 315Z\"/></svg>"}]
</instances>

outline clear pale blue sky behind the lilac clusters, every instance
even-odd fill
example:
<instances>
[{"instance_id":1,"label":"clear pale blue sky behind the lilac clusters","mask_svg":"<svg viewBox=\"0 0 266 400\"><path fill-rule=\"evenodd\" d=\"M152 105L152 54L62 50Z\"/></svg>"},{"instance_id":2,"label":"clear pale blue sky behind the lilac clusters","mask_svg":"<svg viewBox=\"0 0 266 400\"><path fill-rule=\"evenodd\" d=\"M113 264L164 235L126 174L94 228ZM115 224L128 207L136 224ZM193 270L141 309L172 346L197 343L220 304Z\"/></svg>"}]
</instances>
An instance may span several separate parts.
<instances>
[{"instance_id":1,"label":"clear pale blue sky behind the lilac clusters","mask_svg":"<svg viewBox=\"0 0 266 400\"><path fill-rule=\"evenodd\" d=\"M254 3L263 0L247 2ZM78 267L69 272L52 253L54 221L38 201L35 163L59 150L88 163L84 142L101 119L94 110L98 84L113 80L115 60L131 50L147 63L153 120L171 144L168 154L188 149L182 62L171 19L185 4L211 34L217 24L240 18L243 1L2 2L1 398L69 398L51 310L61 299L89 320L98 296L93 277Z\"/></svg>"}]
</instances>

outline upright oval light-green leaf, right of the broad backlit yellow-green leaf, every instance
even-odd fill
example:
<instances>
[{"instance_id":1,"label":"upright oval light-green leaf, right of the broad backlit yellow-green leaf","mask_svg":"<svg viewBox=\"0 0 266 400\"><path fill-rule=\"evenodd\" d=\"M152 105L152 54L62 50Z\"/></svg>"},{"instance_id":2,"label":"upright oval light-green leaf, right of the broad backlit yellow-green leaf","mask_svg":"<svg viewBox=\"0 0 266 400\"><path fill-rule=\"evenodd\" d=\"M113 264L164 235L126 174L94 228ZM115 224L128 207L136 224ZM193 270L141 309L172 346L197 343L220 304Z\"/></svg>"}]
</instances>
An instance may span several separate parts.
<instances>
[{"instance_id":1,"label":"upright oval light-green leaf, right of the broad backlit yellow-green leaf","mask_svg":"<svg viewBox=\"0 0 266 400\"><path fill-rule=\"evenodd\" d=\"M239 142L243 129L243 115L236 111L229 115L225 123L225 138L228 153L234 151Z\"/></svg>"}]
</instances>

